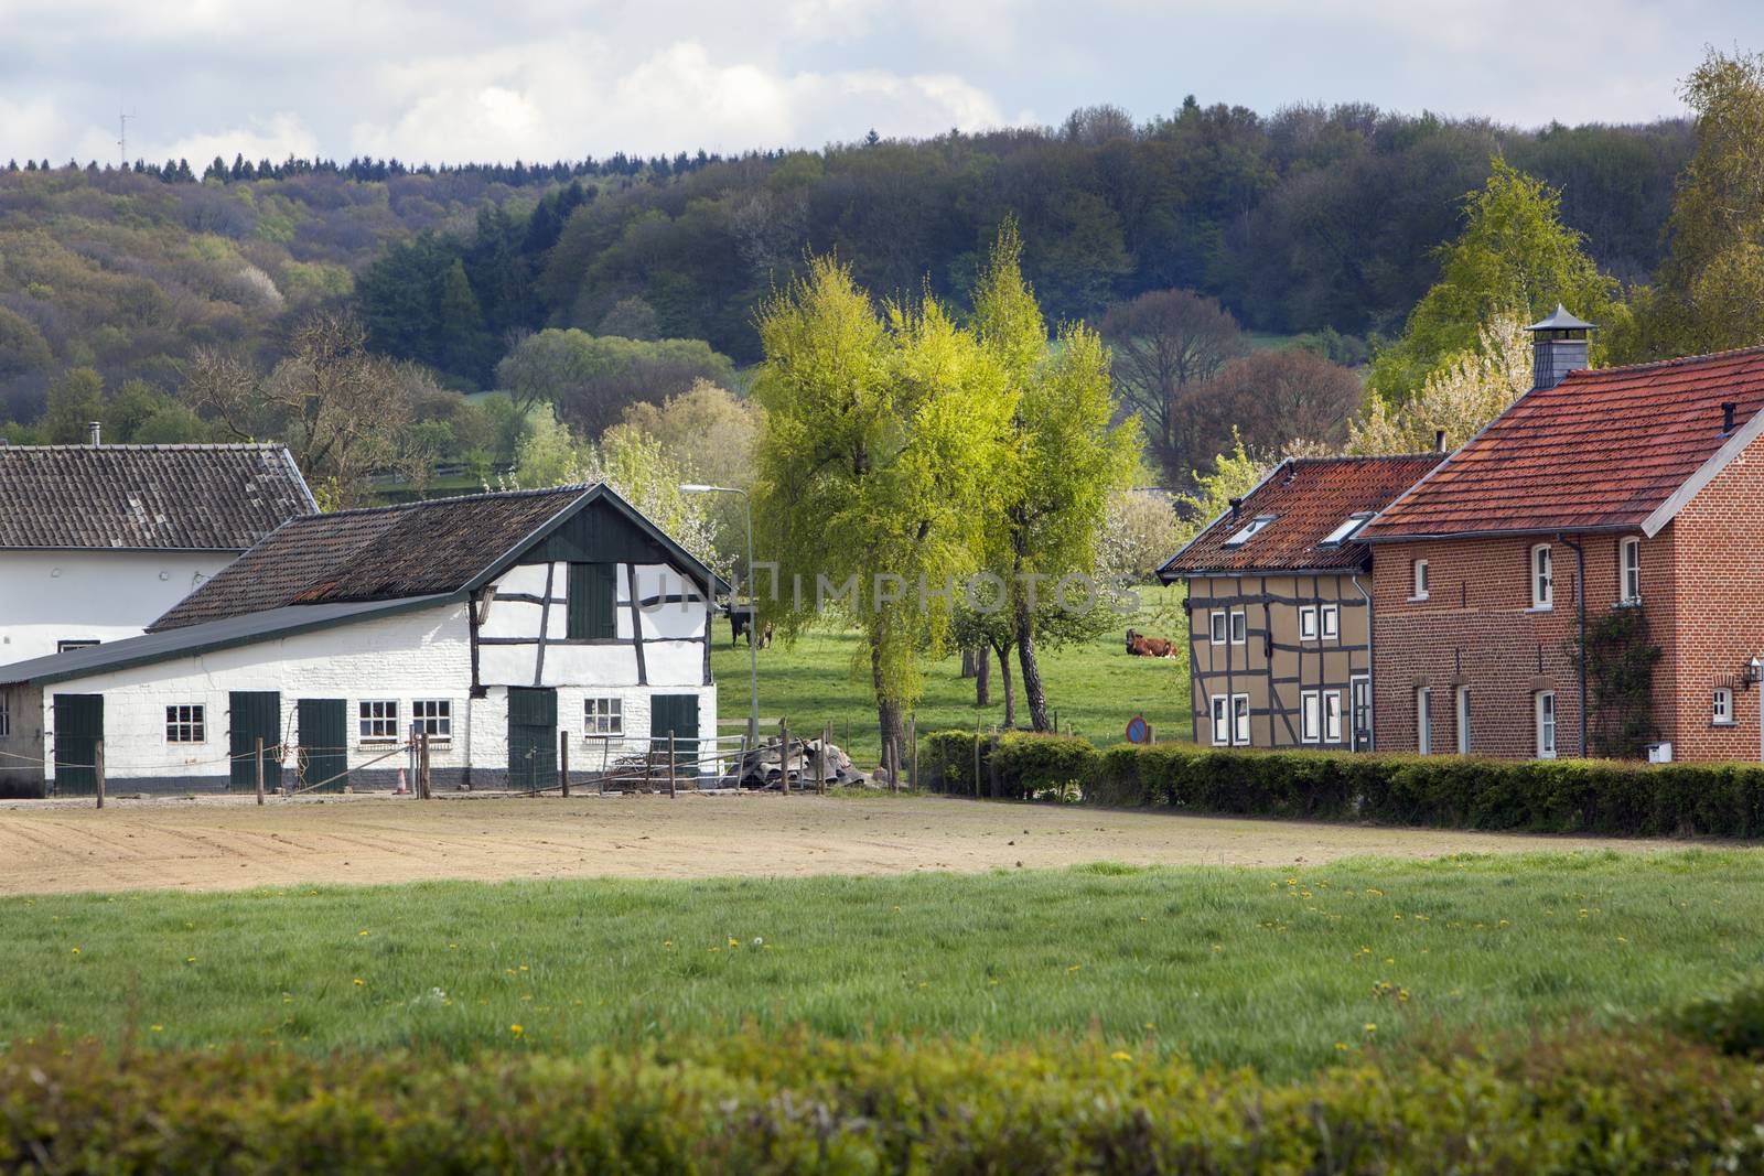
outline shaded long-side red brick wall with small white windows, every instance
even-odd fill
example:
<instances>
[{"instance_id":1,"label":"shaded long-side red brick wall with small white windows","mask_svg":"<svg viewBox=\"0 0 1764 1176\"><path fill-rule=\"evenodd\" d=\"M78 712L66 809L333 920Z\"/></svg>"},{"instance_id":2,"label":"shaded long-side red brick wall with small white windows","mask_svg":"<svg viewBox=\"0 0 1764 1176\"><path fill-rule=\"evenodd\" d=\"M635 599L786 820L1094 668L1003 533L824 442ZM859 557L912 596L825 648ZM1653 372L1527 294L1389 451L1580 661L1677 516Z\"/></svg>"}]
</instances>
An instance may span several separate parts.
<instances>
[{"instance_id":1,"label":"shaded long-side red brick wall with small white windows","mask_svg":"<svg viewBox=\"0 0 1764 1176\"><path fill-rule=\"evenodd\" d=\"M1469 686L1471 751L1506 758L1536 755L1536 693L1556 691L1556 755L1581 748L1577 559L1551 538L1554 608L1531 610L1536 538L1379 543L1372 555L1372 659L1379 751L1416 749L1415 691L1432 691L1432 749L1457 749L1455 689ZM1577 540L1586 550L1588 619L1619 594L1618 536ZM1429 598L1411 601L1413 561L1429 561ZM1642 599L1671 596L1671 540L1642 541ZM1669 608L1663 612L1671 612ZM1649 614L1651 629L1660 617ZM1658 636L1655 638L1662 645ZM1656 679L1658 684L1658 679Z\"/></svg>"}]
</instances>

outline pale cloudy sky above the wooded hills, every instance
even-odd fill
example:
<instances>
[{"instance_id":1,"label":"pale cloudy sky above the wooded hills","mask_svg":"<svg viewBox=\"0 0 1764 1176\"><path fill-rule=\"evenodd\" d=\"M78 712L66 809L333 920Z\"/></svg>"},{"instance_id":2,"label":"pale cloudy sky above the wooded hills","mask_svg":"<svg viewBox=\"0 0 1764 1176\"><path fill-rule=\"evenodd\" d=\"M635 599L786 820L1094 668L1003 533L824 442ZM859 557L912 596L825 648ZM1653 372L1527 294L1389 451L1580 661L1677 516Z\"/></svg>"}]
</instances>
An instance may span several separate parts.
<instances>
[{"instance_id":1,"label":"pale cloudy sky above the wooded hills","mask_svg":"<svg viewBox=\"0 0 1764 1176\"><path fill-rule=\"evenodd\" d=\"M1547 16L1544 16L1547 12ZM0 157L818 146L1185 93L1521 125L1679 111L1745 0L0 0Z\"/></svg>"}]
</instances>

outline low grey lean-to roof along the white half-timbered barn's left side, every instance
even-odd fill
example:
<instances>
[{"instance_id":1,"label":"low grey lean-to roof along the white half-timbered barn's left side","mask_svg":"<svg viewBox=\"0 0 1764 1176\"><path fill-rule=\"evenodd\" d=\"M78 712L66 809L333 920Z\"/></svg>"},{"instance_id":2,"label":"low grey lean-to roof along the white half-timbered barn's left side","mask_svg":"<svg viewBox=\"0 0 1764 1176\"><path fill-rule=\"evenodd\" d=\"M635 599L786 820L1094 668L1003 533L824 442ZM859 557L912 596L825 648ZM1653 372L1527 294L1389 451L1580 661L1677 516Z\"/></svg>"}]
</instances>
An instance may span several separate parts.
<instances>
[{"instance_id":1,"label":"low grey lean-to roof along the white half-timbered barn's left side","mask_svg":"<svg viewBox=\"0 0 1764 1176\"><path fill-rule=\"evenodd\" d=\"M12 686L18 682L32 682L35 686L65 682L78 677L90 677L93 674L108 674L111 670L127 670L131 666L168 661L171 658L191 658L215 649L249 645L252 642L293 636L312 629L328 629L332 626L349 624L365 617L383 617L386 614L427 608L430 605L445 603L446 599L450 598L443 594L416 596L409 599L270 608L266 612L226 617L224 621L192 624L182 629L148 633L146 636L127 636L120 642L104 642L102 645L93 645L90 649L72 649L65 654L48 654L44 658L32 658L30 661L14 661L12 665L0 666L0 686Z\"/></svg>"}]
</instances>

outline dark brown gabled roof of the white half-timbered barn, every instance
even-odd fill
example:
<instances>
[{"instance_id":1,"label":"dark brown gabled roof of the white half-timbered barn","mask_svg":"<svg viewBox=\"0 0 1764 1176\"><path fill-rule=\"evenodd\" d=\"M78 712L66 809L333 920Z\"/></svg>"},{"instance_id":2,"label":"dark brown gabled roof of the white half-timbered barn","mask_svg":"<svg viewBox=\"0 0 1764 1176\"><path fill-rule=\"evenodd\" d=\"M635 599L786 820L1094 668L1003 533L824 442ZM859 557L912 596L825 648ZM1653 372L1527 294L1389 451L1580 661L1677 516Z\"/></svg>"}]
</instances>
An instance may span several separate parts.
<instances>
[{"instance_id":1,"label":"dark brown gabled roof of the white half-timbered barn","mask_svg":"<svg viewBox=\"0 0 1764 1176\"><path fill-rule=\"evenodd\" d=\"M637 525L679 566L714 575L610 487L473 494L289 520L148 631L295 605L462 596L594 502Z\"/></svg>"}]
</instances>

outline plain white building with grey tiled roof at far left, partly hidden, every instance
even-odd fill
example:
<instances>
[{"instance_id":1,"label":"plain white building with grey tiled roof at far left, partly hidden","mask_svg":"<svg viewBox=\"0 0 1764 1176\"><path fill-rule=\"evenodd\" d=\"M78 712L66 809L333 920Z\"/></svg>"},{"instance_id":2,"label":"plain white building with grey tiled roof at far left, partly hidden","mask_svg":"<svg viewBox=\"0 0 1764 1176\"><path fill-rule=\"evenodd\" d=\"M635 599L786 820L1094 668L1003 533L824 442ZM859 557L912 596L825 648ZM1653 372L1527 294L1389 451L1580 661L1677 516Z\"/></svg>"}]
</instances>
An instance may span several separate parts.
<instances>
[{"instance_id":1,"label":"plain white building with grey tiled roof at far left, partly hidden","mask_svg":"<svg viewBox=\"0 0 1764 1176\"><path fill-rule=\"evenodd\" d=\"M139 636L316 510L282 446L0 444L0 663Z\"/></svg>"}]
</instances>

